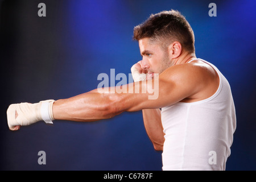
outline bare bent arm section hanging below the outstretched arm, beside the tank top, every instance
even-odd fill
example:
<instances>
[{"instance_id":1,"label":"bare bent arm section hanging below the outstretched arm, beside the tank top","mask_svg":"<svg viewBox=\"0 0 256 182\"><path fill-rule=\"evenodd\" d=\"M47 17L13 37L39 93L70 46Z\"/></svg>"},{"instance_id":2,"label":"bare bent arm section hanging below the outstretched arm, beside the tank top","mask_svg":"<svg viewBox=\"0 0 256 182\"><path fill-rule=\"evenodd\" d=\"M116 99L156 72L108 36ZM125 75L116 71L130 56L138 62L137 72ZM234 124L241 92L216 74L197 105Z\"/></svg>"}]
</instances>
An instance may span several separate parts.
<instances>
[{"instance_id":1,"label":"bare bent arm section hanging below the outstretched arm, beside the tank top","mask_svg":"<svg viewBox=\"0 0 256 182\"><path fill-rule=\"evenodd\" d=\"M164 132L160 109L143 109L144 126L155 150L163 150Z\"/></svg>"}]
</instances>

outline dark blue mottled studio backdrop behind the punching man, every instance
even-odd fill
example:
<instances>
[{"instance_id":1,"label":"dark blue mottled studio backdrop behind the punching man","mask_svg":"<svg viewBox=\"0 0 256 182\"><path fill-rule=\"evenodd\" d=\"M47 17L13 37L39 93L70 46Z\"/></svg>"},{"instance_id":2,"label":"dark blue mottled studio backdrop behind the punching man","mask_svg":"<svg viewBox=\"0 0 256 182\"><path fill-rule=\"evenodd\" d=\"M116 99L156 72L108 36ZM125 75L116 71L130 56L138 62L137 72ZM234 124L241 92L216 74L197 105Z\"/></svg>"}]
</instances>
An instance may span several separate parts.
<instances>
[{"instance_id":1,"label":"dark blue mottled studio backdrop behind the punching man","mask_svg":"<svg viewBox=\"0 0 256 182\"><path fill-rule=\"evenodd\" d=\"M46 3L46 17L38 4ZM209 3L217 5L210 17ZM75 96L100 73L130 73L141 59L133 28L150 14L179 10L195 33L196 56L229 80L237 130L226 170L256 169L256 1L0 1L1 170L161 170L141 111L92 123L38 122L9 131L6 109L19 102ZM46 165L38 152L46 152Z\"/></svg>"}]
</instances>

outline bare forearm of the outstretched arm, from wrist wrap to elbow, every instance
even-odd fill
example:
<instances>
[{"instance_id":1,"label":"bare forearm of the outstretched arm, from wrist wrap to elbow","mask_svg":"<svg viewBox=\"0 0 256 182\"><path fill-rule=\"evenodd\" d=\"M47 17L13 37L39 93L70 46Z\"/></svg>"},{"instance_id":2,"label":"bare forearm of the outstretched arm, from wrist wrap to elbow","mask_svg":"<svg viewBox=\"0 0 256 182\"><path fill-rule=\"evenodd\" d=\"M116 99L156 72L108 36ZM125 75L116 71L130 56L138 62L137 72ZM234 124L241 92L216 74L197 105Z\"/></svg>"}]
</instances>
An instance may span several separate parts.
<instances>
[{"instance_id":1,"label":"bare forearm of the outstretched arm, from wrist wrap to elbow","mask_svg":"<svg viewBox=\"0 0 256 182\"><path fill-rule=\"evenodd\" d=\"M98 93L97 89L75 97L57 100L53 104L55 120L89 122L112 118L122 111L115 110L113 95Z\"/></svg>"}]
</instances>

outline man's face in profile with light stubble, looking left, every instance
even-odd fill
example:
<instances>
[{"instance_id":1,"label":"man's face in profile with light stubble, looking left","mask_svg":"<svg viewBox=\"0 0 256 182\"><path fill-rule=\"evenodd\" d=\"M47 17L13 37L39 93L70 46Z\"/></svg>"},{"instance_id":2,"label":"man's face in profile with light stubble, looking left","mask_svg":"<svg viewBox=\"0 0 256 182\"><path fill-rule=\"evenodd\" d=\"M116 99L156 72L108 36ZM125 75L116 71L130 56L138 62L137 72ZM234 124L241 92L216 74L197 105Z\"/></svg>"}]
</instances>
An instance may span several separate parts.
<instances>
[{"instance_id":1,"label":"man's face in profile with light stubble, looking left","mask_svg":"<svg viewBox=\"0 0 256 182\"><path fill-rule=\"evenodd\" d=\"M162 73L171 66L168 51L164 51L158 43L150 42L149 38L139 40L139 49L142 55L142 69L148 73L148 77L154 77L154 73Z\"/></svg>"}]
</instances>

